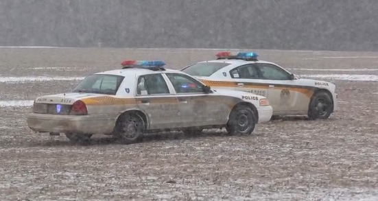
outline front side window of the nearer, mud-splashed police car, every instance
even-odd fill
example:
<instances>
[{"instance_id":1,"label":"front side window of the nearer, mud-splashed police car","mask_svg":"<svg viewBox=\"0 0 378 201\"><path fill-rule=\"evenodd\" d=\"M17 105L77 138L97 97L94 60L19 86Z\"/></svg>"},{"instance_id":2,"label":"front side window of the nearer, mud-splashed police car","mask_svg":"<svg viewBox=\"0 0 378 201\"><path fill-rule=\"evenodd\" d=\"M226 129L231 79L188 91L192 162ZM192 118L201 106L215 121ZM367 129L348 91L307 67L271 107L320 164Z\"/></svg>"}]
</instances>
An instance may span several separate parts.
<instances>
[{"instance_id":1,"label":"front side window of the nearer, mud-splashed police car","mask_svg":"<svg viewBox=\"0 0 378 201\"><path fill-rule=\"evenodd\" d=\"M178 73L166 73L169 81L172 82L176 93L203 93L203 84L188 75Z\"/></svg>"}]
</instances>

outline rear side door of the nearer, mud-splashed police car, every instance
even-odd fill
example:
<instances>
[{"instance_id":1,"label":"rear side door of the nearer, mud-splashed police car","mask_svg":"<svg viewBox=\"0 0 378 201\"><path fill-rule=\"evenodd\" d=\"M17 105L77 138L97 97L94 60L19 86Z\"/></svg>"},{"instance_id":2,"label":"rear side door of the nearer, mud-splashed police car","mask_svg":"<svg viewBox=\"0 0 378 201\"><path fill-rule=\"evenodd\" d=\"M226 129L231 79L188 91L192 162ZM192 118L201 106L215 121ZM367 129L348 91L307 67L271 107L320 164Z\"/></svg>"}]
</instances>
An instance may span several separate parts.
<instances>
[{"instance_id":1,"label":"rear side door of the nearer, mud-splashed police car","mask_svg":"<svg viewBox=\"0 0 378 201\"><path fill-rule=\"evenodd\" d=\"M178 99L161 73L139 76L136 93L137 106L147 115L150 129L179 127Z\"/></svg>"}]
</instances>

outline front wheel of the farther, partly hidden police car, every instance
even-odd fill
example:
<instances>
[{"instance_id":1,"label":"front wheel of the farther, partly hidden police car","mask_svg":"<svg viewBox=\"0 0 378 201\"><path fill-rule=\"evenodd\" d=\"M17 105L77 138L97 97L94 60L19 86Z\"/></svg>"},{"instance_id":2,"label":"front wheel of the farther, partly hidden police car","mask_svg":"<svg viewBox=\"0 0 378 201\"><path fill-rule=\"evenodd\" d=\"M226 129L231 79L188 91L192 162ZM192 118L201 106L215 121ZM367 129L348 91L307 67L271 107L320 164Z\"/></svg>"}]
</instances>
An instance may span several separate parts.
<instances>
[{"instance_id":1,"label":"front wheel of the farther, partly hidden police car","mask_svg":"<svg viewBox=\"0 0 378 201\"><path fill-rule=\"evenodd\" d=\"M320 91L311 98L308 117L311 120L328 119L332 111L332 97L328 93Z\"/></svg>"}]
</instances>

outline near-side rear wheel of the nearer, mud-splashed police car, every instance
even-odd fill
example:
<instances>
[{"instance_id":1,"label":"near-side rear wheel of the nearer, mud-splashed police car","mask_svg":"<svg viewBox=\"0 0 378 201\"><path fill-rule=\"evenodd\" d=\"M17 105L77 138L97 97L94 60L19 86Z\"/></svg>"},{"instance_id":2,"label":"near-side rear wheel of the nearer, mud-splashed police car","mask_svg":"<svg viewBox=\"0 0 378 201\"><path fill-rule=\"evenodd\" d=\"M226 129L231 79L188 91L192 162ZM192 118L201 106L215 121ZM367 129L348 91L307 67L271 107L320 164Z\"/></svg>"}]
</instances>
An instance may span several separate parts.
<instances>
[{"instance_id":1,"label":"near-side rear wheel of the nearer, mud-splashed police car","mask_svg":"<svg viewBox=\"0 0 378 201\"><path fill-rule=\"evenodd\" d=\"M126 144L138 143L143 139L145 122L134 113L126 113L119 117L115 125L114 136Z\"/></svg>"}]
</instances>

